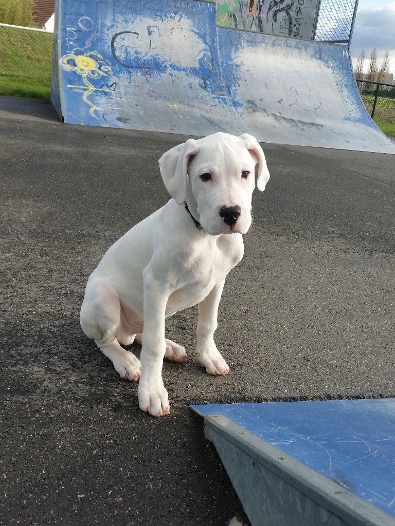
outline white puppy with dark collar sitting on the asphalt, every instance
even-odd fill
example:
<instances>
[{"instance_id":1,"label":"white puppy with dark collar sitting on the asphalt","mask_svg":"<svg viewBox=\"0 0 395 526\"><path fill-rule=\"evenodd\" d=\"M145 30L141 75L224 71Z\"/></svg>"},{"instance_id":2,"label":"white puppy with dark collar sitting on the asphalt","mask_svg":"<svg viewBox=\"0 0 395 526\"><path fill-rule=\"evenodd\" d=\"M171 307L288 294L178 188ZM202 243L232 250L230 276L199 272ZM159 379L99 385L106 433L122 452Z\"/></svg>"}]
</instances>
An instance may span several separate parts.
<instances>
[{"instance_id":1,"label":"white puppy with dark collar sitting on the asphalt","mask_svg":"<svg viewBox=\"0 0 395 526\"><path fill-rule=\"evenodd\" d=\"M140 408L153 416L170 412L163 358L186 360L165 339L167 316L199 304L197 359L210 375L229 372L214 331L225 277L243 257L257 163L263 191L269 171L251 135L216 133L167 151L159 165L173 199L116 241L88 279L81 327L122 378L140 378ZM135 338L141 364L120 345Z\"/></svg>"}]
</instances>

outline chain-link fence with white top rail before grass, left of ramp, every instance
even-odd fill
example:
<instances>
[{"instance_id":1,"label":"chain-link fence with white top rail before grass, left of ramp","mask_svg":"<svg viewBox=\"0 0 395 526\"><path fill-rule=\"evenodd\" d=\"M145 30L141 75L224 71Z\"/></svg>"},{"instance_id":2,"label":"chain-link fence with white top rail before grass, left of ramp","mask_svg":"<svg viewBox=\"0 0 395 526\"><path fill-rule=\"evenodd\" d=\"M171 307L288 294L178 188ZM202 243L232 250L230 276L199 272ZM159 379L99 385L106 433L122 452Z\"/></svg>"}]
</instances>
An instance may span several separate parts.
<instances>
[{"instance_id":1,"label":"chain-link fence with white top rail before grass, left of ramp","mask_svg":"<svg viewBox=\"0 0 395 526\"><path fill-rule=\"evenodd\" d=\"M49 98L53 33L0 24L0 95Z\"/></svg>"}]
</instances>

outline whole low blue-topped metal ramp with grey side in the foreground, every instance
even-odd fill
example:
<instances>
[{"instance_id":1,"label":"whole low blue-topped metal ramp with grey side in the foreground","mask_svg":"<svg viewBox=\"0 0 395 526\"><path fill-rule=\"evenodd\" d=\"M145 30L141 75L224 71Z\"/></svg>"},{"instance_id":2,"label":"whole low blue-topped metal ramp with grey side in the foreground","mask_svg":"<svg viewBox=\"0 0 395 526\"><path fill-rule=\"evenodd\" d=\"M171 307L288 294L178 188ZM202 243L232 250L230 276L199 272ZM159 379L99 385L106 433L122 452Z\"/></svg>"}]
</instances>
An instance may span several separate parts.
<instances>
[{"instance_id":1,"label":"whole low blue-topped metal ramp with grey side in the foreground","mask_svg":"<svg viewBox=\"0 0 395 526\"><path fill-rule=\"evenodd\" d=\"M253 526L395 525L395 399L192 408Z\"/></svg>"}]
</instances>

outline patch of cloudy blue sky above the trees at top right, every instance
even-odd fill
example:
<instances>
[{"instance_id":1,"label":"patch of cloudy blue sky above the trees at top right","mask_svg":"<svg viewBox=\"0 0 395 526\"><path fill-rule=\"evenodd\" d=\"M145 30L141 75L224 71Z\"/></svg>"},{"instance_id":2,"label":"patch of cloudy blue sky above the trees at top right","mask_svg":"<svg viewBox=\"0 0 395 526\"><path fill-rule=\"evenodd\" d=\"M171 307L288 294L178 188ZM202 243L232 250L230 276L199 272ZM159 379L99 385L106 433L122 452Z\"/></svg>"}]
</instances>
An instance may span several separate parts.
<instances>
[{"instance_id":1,"label":"patch of cloudy blue sky above the trees at top right","mask_svg":"<svg viewBox=\"0 0 395 526\"><path fill-rule=\"evenodd\" d=\"M380 69L386 49L390 54L389 73L395 79L395 1L359 0L356 24L351 40L351 56L355 66L361 50L365 50L366 64L373 47L377 48L377 66Z\"/></svg>"}]
</instances>

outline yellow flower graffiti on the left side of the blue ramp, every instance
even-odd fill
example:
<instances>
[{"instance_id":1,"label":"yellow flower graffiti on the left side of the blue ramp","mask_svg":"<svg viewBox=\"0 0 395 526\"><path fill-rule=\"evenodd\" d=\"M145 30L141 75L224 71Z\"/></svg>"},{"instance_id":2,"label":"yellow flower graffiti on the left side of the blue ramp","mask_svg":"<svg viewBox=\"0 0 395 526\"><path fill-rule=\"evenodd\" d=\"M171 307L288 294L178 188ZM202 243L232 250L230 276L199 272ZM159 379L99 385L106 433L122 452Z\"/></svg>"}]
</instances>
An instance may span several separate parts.
<instances>
[{"instance_id":1,"label":"yellow flower graffiti on the left side of the blue ramp","mask_svg":"<svg viewBox=\"0 0 395 526\"><path fill-rule=\"evenodd\" d=\"M88 100L87 97L95 91L111 93L111 89L96 88L91 84L88 77L99 78L111 75L112 71L110 65L105 62L102 55L97 53L97 51L88 51L84 53L84 55L65 55L62 58L62 64L65 64L68 71L75 71L78 75L81 75L84 86L68 84L67 87L74 89L76 92L83 93L82 98L84 102L90 106L89 114L98 119L94 114L94 111L98 109L98 107L91 102L91 100Z\"/></svg>"}]
</instances>

